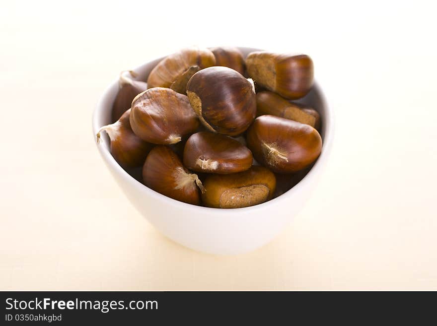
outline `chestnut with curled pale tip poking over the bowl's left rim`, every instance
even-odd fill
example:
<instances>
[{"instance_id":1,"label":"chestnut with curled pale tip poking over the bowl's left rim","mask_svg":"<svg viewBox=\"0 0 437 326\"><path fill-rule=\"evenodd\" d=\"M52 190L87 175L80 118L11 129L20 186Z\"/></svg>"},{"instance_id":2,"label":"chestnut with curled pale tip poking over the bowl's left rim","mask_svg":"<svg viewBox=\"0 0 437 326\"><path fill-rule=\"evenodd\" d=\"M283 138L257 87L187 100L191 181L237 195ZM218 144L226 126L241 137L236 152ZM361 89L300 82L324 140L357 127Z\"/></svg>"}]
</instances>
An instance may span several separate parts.
<instances>
[{"instance_id":1,"label":"chestnut with curled pale tip poking over the bowl's left rim","mask_svg":"<svg viewBox=\"0 0 437 326\"><path fill-rule=\"evenodd\" d=\"M139 138L131 129L129 115L126 111L121 118L112 125L103 126L97 132L97 142L100 142L101 132L106 131L111 141L111 154L115 160L125 168L141 166L146 160L152 145Z\"/></svg>"}]
</instances>

